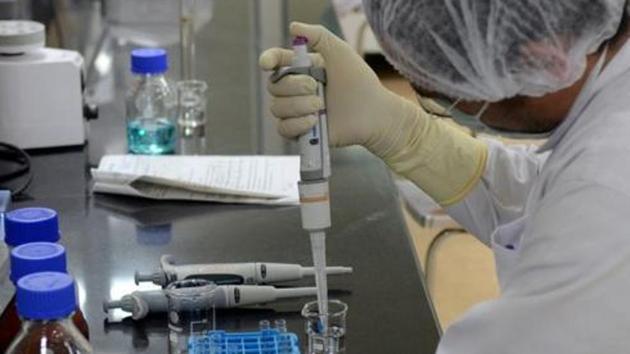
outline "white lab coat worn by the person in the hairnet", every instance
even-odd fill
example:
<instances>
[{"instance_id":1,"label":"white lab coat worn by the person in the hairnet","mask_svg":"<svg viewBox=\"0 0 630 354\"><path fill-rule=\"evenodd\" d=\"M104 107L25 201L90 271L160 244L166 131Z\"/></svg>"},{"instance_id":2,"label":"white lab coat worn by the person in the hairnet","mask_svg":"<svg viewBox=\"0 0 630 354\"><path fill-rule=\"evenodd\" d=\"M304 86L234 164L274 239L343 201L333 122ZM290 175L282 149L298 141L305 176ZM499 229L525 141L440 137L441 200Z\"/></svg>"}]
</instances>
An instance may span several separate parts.
<instances>
[{"instance_id":1,"label":"white lab coat worn by the person in the hairnet","mask_svg":"<svg viewBox=\"0 0 630 354\"><path fill-rule=\"evenodd\" d=\"M630 353L630 44L542 149L489 146L481 182L448 211L492 247L501 296L437 353Z\"/></svg>"}]
</instances>

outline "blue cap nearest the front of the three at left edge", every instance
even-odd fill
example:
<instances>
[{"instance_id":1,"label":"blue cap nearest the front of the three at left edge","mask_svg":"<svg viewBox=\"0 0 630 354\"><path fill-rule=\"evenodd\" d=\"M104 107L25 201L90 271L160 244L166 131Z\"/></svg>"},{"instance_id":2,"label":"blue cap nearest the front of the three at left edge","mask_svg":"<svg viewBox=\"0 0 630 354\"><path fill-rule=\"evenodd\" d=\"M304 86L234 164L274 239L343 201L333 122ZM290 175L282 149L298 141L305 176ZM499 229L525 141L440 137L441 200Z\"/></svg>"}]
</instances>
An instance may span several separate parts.
<instances>
[{"instance_id":1,"label":"blue cap nearest the front of the three at left edge","mask_svg":"<svg viewBox=\"0 0 630 354\"><path fill-rule=\"evenodd\" d=\"M31 320L53 320L70 316L77 307L74 280L66 273L41 272L18 280L17 310Z\"/></svg>"}]
</instances>

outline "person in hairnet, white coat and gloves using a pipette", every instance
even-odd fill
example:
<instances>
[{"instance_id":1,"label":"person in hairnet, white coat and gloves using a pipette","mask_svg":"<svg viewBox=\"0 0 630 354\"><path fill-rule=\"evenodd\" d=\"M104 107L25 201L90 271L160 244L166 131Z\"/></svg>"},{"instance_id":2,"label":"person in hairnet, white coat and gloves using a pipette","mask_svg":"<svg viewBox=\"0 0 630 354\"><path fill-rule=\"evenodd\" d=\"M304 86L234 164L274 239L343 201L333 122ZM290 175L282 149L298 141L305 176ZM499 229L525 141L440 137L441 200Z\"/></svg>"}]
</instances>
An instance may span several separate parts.
<instances>
[{"instance_id":1,"label":"person in hairnet, white coat and gloves using a pipette","mask_svg":"<svg viewBox=\"0 0 630 354\"><path fill-rule=\"evenodd\" d=\"M362 145L494 251L501 296L444 333L439 354L630 353L630 44L624 0L364 0L420 104L352 48L294 23L328 72L331 143ZM274 48L265 70L290 63ZM282 135L322 106L309 77L270 84ZM465 125L547 137L539 148Z\"/></svg>"}]
</instances>

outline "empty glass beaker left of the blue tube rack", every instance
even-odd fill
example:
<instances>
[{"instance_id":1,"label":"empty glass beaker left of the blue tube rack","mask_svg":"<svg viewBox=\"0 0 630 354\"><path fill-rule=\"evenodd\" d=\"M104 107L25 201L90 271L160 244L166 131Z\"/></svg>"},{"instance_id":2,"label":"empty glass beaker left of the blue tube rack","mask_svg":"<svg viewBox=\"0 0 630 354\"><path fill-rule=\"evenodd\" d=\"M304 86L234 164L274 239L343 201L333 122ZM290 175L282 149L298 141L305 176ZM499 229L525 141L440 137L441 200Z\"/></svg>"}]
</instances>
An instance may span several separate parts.
<instances>
[{"instance_id":1,"label":"empty glass beaker left of the blue tube rack","mask_svg":"<svg viewBox=\"0 0 630 354\"><path fill-rule=\"evenodd\" d=\"M210 326L216 285L203 279L176 281L166 287L170 353L187 353L188 339Z\"/></svg>"}]
</instances>

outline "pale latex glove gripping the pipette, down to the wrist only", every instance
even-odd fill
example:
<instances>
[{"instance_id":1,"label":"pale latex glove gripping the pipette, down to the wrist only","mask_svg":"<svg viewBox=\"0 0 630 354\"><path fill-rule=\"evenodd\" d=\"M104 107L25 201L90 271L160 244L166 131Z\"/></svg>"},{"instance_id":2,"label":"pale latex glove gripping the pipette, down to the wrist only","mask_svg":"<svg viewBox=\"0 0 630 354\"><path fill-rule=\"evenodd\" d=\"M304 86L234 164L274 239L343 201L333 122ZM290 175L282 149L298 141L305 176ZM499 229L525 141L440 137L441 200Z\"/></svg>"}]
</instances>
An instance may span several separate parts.
<instances>
[{"instance_id":1,"label":"pale latex glove gripping the pipette, down to the wrist only","mask_svg":"<svg viewBox=\"0 0 630 354\"><path fill-rule=\"evenodd\" d=\"M383 87L372 69L344 41L321 26L291 25L291 34L309 39L318 66L326 66L327 111L330 144L363 145L381 156L393 144L402 120L415 119L414 104ZM293 51L272 48L260 57L264 70L291 65ZM269 84L274 96L271 112L278 130L287 138L307 133L315 124L323 102L316 95L317 82L306 75L291 75ZM410 107L406 107L410 106Z\"/></svg>"}]
</instances>

